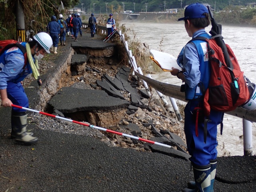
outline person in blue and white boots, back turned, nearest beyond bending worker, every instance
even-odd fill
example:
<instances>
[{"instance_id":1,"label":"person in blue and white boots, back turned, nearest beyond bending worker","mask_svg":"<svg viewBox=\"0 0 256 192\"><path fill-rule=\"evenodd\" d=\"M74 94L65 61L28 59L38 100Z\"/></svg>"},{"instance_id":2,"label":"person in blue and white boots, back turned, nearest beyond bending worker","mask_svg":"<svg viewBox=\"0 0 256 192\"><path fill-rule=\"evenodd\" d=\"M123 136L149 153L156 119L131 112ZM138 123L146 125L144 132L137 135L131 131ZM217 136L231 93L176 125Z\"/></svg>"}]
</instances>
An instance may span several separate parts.
<instances>
[{"instance_id":1,"label":"person in blue and white boots, back turned, nearest beyond bending worker","mask_svg":"<svg viewBox=\"0 0 256 192\"><path fill-rule=\"evenodd\" d=\"M59 36L60 36L60 25L56 22L56 16L51 17L51 21L48 23L47 26L47 33L50 34L53 42L54 47L54 54L57 54L57 48L59 43Z\"/></svg>"}]
</instances>

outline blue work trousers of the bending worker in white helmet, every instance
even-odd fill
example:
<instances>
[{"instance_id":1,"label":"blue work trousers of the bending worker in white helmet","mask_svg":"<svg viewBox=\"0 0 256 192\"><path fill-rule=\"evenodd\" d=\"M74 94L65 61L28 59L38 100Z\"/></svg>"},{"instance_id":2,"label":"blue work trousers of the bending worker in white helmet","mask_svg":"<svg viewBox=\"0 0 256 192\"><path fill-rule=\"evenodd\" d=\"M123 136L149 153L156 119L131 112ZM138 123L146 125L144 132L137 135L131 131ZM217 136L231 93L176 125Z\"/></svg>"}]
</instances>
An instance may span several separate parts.
<instances>
[{"instance_id":1,"label":"blue work trousers of the bending worker in white helmet","mask_svg":"<svg viewBox=\"0 0 256 192\"><path fill-rule=\"evenodd\" d=\"M14 105L28 108L28 97L24 92L24 88L20 82L14 83L11 81L7 82L7 96ZM25 112L26 110L14 107L14 112Z\"/></svg>"}]
</instances>

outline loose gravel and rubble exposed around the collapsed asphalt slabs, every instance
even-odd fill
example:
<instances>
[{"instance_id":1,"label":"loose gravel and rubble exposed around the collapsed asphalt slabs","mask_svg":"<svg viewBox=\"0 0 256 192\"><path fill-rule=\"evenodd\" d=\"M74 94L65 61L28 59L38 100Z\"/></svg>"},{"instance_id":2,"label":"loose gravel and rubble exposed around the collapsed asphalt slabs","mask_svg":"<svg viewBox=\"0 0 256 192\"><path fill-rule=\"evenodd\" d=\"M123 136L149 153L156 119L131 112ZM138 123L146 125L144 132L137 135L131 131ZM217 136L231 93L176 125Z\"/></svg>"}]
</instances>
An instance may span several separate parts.
<instances>
[{"instance_id":1,"label":"loose gravel and rubble exposed around the collapsed asphalt slabs","mask_svg":"<svg viewBox=\"0 0 256 192\"><path fill-rule=\"evenodd\" d=\"M61 49L61 47L60 47ZM53 68L55 65L54 60L50 60L48 57L46 60L40 60L39 62L39 73L44 74L50 68ZM101 80L104 74L108 74L112 79L114 79L114 75L120 70L121 66L111 66L111 65L86 65L86 70L84 74L74 74L74 76L69 76L66 78L64 82L62 82L63 86L73 86L75 88L82 89L100 89L100 87L96 87L96 80ZM131 82L132 76L129 76L129 81ZM24 87L29 86L30 82L34 80L33 77L26 78L24 80ZM138 89L144 89L142 82L138 85ZM154 90L152 90L154 91ZM130 101L130 93L120 90L122 96L124 96L125 100ZM137 125L141 134L137 136L150 140L156 135L152 132L151 124L158 130L158 132L162 133L166 138L170 138L170 134L168 132L172 132L177 134L185 141L183 126L184 121L178 122L176 119L175 113L170 112L169 117L166 117L162 114L162 109L154 103L154 99L142 99L142 102L145 106L149 106L151 110L142 109L138 107L138 110L130 109L128 110L128 114L125 114L124 118L119 122L118 125L115 126L115 130L118 132L131 134L131 130L129 128L124 128L128 124ZM150 103L149 103L150 102ZM58 116L58 114L56 114ZM72 122L50 118L48 116L43 116L40 114L32 114L32 118L30 119L31 123L36 123L42 129L53 130L56 132L62 133L72 133L72 134L80 134L86 135L94 138L98 138L110 146L119 146L122 148L134 148L139 151L151 151L144 142L141 141L133 141L130 138L126 138L123 136L110 134L107 132L102 132L93 128L89 128L86 126L82 126L79 124L75 124ZM125 126L121 126L125 125ZM184 148L186 150L186 148Z\"/></svg>"}]
</instances>

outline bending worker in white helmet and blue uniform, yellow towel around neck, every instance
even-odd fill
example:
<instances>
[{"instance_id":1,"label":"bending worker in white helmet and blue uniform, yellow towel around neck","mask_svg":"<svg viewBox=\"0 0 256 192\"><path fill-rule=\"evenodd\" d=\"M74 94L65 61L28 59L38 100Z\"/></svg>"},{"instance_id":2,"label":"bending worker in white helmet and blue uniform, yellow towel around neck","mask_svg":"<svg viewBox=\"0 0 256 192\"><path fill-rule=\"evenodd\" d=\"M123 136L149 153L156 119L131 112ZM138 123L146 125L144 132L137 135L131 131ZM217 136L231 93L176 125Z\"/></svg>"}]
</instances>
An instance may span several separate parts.
<instances>
[{"instance_id":1,"label":"bending worker in white helmet and blue uniform, yellow towel around neck","mask_svg":"<svg viewBox=\"0 0 256 192\"><path fill-rule=\"evenodd\" d=\"M0 95L2 106L11 107L12 104L21 107L29 107L28 97L22 87L22 81L33 74L37 79L39 73L36 65L46 52L50 53L52 38L45 32L33 36L31 42L22 42L26 48L27 62L20 48L14 46L4 51L0 56ZM27 115L26 110L12 108L11 114L11 138L17 142L32 144L38 141L33 133L26 132Z\"/></svg>"}]
</instances>

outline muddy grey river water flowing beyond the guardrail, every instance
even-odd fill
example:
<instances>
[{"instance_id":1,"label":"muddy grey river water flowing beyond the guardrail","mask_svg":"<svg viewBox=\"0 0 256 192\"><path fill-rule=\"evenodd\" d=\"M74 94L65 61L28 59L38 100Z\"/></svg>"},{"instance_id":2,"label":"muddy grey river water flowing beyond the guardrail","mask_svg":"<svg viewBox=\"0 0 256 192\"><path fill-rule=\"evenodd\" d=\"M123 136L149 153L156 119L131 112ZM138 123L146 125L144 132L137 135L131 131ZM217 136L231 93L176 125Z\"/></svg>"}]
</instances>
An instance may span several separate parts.
<instances>
[{"instance_id":1,"label":"muddy grey river water flowing beyond the guardrail","mask_svg":"<svg viewBox=\"0 0 256 192\"><path fill-rule=\"evenodd\" d=\"M130 28L128 33L130 38L136 34L136 38L142 43L149 45L149 49L154 49L178 56L180 50L191 39L184 28L184 22L177 24L159 24L159 23L139 23L134 20L122 21L126 28ZM211 27L206 28L209 32ZM222 36L226 44L229 44L234 51L240 64L251 82L256 83L256 28L222 26ZM148 50L149 51L149 50ZM180 86L180 79L172 76L169 72L160 72L152 75L155 80L168 82ZM166 97L167 98L167 97ZM181 102L178 101L177 102ZM184 102L184 104L186 104ZM218 127L218 156L226 155L244 155L242 119L231 115L224 115L223 134L220 135ZM253 154L256 154L256 123L252 124Z\"/></svg>"}]
</instances>

